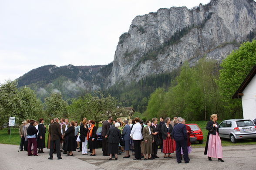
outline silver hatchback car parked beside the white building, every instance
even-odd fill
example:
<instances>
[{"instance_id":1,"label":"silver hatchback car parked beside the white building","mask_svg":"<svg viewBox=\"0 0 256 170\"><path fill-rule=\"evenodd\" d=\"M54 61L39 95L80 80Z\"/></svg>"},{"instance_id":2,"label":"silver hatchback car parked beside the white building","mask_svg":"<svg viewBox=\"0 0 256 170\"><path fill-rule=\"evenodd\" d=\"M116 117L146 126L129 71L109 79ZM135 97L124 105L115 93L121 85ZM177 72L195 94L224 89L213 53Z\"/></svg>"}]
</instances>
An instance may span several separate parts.
<instances>
[{"instance_id":1,"label":"silver hatchback car parked beside the white building","mask_svg":"<svg viewBox=\"0 0 256 170\"><path fill-rule=\"evenodd\" d=\"M232 143L237 139L256 138L256 126L249 119L229 119L219 124L219 137L229 138Z\"/></svg>"}]
</instances>

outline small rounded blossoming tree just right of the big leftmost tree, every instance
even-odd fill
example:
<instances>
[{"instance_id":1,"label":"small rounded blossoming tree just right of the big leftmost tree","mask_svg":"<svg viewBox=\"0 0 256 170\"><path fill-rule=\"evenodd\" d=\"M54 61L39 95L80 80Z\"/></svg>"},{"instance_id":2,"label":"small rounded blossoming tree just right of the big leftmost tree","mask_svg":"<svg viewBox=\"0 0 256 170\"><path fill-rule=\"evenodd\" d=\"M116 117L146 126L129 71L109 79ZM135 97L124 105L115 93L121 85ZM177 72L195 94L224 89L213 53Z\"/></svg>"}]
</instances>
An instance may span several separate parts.
<instances>
[{"instance_id":1,"label":"small rounded blossoming tree just right of the big leftmost tree","mask_svg":"<svg viewBox=\"0 0 256 170\"><path fill-rule=\"evenodd\" d=\"M52 93L45 98L45 113L49 118L68 118L67 101L62 99L61 93Z\"/></svg>"}]
</instances>

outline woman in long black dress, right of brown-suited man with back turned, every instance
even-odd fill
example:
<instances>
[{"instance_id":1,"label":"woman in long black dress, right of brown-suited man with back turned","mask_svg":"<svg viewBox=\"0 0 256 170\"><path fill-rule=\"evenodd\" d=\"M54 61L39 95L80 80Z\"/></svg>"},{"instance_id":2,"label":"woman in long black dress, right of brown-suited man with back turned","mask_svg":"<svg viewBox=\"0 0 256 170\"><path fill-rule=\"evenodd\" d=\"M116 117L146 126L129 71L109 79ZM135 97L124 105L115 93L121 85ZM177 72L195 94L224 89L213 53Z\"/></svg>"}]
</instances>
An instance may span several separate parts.
<instances>
[{"instance_id":1,"label":"woman in long black dress, right of brown-suited man with back turned","mask_svg":"<svg viewBox=\"0 0 256 170\"><path fill-rule=\"evenodd\" d=\"M67 131L64 133L65 136L65 150L68 151L67 156L73 156L73 151L76 151L75 141L74 141L74 121L69 123Z\"/></svg>"}]
</instances>

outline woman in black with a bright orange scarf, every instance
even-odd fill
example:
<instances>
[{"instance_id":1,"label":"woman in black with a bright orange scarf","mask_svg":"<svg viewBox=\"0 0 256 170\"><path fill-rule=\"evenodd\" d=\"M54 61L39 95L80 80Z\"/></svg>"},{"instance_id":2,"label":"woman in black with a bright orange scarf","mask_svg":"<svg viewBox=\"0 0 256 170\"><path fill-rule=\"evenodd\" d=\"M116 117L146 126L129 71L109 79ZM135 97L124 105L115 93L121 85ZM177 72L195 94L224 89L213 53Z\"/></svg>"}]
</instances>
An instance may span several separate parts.
<instances>
[{"instance_id":1,"label":"woman in black with a bright orange scarf","mask_svg":"<svg viewBox=\"0 0 256 170\"><path fill-rule=\"evenodd\" d=\"M90 156L95 156L95 149L98 148L97 142L97 127L95 126L95 121L90 120L89 124L91 125L88 129L87 140L89 143L90 150L92 150L92 154Z\"/></svg>"}]
</instances>

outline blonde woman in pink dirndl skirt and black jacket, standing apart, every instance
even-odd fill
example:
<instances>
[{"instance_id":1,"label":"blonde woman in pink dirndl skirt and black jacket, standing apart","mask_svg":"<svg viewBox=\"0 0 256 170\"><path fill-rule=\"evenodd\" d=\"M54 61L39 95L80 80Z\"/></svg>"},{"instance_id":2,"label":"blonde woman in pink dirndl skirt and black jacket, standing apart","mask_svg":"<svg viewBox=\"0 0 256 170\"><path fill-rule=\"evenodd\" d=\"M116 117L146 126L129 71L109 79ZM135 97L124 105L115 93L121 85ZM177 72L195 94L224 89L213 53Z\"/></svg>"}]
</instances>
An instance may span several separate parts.
<instances>
[{"instance_id":1,"label":"blonde woman in pink dirndl skirt and black jacket, standing apart","mask_svg":"<svg viewBox=\"0 0 256 170\"><path fill-rule=\"evenodd\" d=\"M208 160L212 160L212 157L214 157L218 158L219 161L224 162L224 160L222 160L222 146L219 137L219 124L216 122L217 120L217 114L212 114L211 120L208 121L206 125L206 129L209 132L204 154L208 156Z\"/></svg>"}]
</instances>

